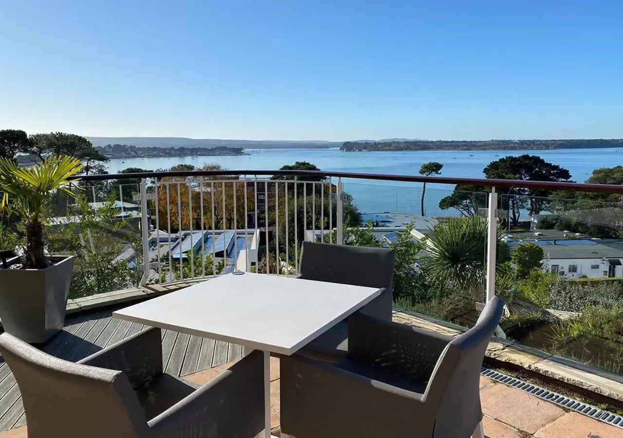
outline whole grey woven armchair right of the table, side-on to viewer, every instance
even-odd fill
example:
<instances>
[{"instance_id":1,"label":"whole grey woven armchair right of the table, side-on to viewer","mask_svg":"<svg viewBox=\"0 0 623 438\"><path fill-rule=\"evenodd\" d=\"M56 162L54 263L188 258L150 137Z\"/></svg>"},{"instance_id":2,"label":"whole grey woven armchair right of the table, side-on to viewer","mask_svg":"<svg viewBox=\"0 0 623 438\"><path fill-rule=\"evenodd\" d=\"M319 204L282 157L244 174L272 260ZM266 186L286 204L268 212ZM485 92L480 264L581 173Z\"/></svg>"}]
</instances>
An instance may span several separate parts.
<instances>
[{"instance_id":1,"label":"whole grey woven armchair right of the table, side-on to viewer","mask_svg":"<svg viewBox=\"0 0 623 438\"><path fill-rule=\"evenodd\" d=\"M356 313L345 361L280 359L282 437L482 438L480 368L502 307L454 338Z\"/></svg>"}]
</instances>

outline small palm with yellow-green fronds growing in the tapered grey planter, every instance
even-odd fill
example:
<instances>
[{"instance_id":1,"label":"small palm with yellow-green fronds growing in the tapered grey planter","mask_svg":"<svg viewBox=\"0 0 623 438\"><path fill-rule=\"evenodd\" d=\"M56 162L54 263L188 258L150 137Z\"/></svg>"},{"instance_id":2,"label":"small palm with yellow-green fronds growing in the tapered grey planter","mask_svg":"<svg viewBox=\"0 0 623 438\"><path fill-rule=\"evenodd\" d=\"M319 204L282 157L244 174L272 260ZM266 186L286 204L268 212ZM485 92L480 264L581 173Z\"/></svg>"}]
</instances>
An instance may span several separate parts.
<instances>
[{"instance_id":1,"label":"small palm with yellow-green fronds growing in the tapered grey planter","mask_svg":"<svg viewBox=\"0 0 623 438\"><path fill-rule=\"evenodd\" d=\"M80 160L54 156L30 168L20 168L15 161L0 158L1 206L11 206L24 222L26 247L22 262L25 268L44 269L43 215L50 193L61 191L74 196L69 183L82 170Z\"/></svg>"}]
</instances>

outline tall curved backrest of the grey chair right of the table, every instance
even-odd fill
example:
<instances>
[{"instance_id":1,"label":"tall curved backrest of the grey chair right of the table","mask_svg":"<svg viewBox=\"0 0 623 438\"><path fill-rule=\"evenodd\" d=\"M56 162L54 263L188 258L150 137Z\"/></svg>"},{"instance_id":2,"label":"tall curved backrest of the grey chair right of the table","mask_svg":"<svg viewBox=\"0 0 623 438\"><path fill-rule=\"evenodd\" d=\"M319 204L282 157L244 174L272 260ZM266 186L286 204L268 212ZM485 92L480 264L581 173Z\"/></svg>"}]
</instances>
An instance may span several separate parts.
<instances>
[{"instance_id":1,"label":"tall curved backrest of the grey chair right of the table","mask_svg":"<svg viewBox=\"0 0 623 438\"><path fill-rule=\"evenodd\" d=\"M480 369L503 307L502 298L493 297L476 325L454 338L437 361L426 390L427 401L438 406L435 437L470 436L482 419Z\"/></svg>"}]
</instances>

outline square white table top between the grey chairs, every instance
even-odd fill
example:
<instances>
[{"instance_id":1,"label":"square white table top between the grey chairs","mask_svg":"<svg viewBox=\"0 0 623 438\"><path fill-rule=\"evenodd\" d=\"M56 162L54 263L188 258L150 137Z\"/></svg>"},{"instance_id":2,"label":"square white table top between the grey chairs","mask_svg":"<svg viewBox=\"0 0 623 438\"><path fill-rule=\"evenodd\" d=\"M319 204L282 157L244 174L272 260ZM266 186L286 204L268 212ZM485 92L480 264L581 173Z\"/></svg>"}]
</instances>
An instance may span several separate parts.
<instances>
[{"instance_id":1,"label":"square white table top between the grey chairs","mask_svg":"<svg viewBox=\"0 0 623 438\"><path fill-rule=\"evenodd\" d=\"M113 317L292 355L380 295L373 287L227 274L113 312Z\"/></svg>"}]
</instances>

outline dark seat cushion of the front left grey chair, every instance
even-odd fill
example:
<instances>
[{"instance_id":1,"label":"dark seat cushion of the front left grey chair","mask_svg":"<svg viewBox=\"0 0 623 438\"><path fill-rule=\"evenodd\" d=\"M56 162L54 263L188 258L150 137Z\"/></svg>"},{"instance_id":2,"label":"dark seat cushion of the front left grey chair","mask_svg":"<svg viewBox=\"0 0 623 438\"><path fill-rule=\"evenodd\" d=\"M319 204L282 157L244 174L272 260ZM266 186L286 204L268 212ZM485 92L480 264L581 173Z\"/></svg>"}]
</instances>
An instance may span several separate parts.
<instances>
[{"instance_id":1,"label":"dark seat cushion of the front left grey chair","mask_svg":"<svg viewBox=\"0 0 623 438\"><path fill-rule=\"evenodd\" d=\"M171 374L159 374L143 386L135 389L136 397L143 407L147 421L155 418L178 401L188 397L195 387Z\"/></svg>"}]
</instances>

